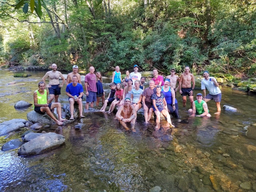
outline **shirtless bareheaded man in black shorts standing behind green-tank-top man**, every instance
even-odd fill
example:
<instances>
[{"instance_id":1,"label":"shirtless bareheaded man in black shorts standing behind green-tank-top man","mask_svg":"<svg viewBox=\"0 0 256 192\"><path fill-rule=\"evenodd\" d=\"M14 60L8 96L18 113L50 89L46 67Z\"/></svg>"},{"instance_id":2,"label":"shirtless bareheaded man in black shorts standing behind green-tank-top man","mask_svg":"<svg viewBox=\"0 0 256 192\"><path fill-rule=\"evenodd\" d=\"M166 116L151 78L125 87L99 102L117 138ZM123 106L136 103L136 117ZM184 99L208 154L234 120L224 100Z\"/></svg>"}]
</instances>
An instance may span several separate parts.
<instances>
[{"instance_id":1,"label":"shirtless bareheaded man in black shorts standing behind green-tank-top man","mask_svg":"<svg viewBox=\"0 0 256 192\"><path fill-rule=\"evenodd\" d=\"M195 77L192 73L189 72L190 68L188 66L185 67L185 73L182 73L179 78L179 93L183 99L183 106L186 106L187 95L190 100L190 107L192 108L192 104L194 102L194 88L195 88ZM191 88L191 81L193 82L193 86Z\"/></svg>"}]
</instances>

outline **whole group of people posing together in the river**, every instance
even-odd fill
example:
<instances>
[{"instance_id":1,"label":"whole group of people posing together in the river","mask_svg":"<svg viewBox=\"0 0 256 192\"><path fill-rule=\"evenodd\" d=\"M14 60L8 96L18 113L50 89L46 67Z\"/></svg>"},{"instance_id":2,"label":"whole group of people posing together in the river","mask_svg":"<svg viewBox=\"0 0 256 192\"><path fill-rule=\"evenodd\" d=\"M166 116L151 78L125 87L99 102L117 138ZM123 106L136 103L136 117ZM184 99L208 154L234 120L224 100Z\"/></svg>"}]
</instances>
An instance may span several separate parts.
<instances>
[{"instance_id":1,"label":"whole group of people posing together in the river","mask_svg":"<svg viewBox=\"0 0 256 192\"><path fill-rule=\"evenodd\" d=\"M51 67L52 70L45 74L42 81L38 83L39 89L34 92L34 110L41 114L47 113L55 120L56 124L62 125L62 122L66 120L61 118L61 105L58 103L58 97L60 88L65 84L65 78L57 71L56 64L52 64ZM171 74L165 80L163 76L158 75L158 70L154 69L154 77L150 80L149 87L146 89L144 87L146 78L142 77L141 73L138 72L137 65L134 65L133 69L134 72L131 73L126 71L126 76L122 79L120 68L116 66L112 75L112 82L109 84L110 93L108 98L105 99L101 72L94 74L95 69L91 66L89 68L90 72L85 76L84 80L84 88L86 90L85 108L88 109L89 104L93 107L95 101L96 106L98 106L100 99L102 99L103 104L100 110L101 112L105 112L106 107L110 106L107 112L111 113L116 106L119 106L116 118L127 128L126 123L131 122L134 125L137 111L143 107L146 123L151 119L152 113L154 112L156 114L156 123L159 124L160 113L162 113L166 117L170 127L174 127L170 119L170 114L175 118L179 118L178 102L176 100L176 92L179 90L183 98L183 106L186 106L186 98L187 96L189 97L191 109L188 112L191 115L210 117L211 115L209 114L206 102L212 99L216 102L216 113L220 113L221 91L216 79L209 77L208 71L203 72L204 79L201 83L201 89L204 95L198 93L196 96L197 100L194 101L195 78L189 72L190 68L188 66L185 67L185 72L180 77L175 74L175 69L171 69ZM61 85L59 84L59 77L62 79ZM45 80L47 78L49 79L49 84L46 85ZM177 82L179 84L176 87ZM49 92L47 90L45 91L45 88L48 88ZM210 92L208 95L206 95L206 89ZM49 99L47 99L48 93L50 94ZM73 72L67 76L66 94L70 102L70 119L74 119L74 103L78 104L80 118L85 118L82 115L83 86L77 65L73 66ZM55 99L55 103L52 103L52 105L51 101L53 99ZM51 112L56 107L59 116L58 120Z\"/></svg>"}]
</instances>

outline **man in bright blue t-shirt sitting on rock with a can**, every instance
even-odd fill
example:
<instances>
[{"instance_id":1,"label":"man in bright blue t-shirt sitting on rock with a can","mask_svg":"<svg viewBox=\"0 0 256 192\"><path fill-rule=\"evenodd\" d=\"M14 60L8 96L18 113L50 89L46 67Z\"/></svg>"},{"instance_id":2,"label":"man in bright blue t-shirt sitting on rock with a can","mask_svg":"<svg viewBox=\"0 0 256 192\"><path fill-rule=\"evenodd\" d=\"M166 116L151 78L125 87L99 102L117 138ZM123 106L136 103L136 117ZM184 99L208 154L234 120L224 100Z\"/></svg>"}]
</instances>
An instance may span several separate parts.
<instances>
[{"instance_id":1,"label":"man in bright blue t-shirt sitting on rock with a can","mask_svg":"<svg viewBox=\"0 0 256 192\"><path fill-rule=\"evenodd\" d=\"M71 113L71 117L69 120L74 119L73 112L74 112L75 102L78 104L80 118L85 118L85 116L83 116L83 103L82 103L83 86L80 83L78 83L78 77L76 75L72 77L72 81L73 82L69 83L66 87L66 95L68 95L68 101L70 103L70 113Z\"/></svg>"}]
</instances>

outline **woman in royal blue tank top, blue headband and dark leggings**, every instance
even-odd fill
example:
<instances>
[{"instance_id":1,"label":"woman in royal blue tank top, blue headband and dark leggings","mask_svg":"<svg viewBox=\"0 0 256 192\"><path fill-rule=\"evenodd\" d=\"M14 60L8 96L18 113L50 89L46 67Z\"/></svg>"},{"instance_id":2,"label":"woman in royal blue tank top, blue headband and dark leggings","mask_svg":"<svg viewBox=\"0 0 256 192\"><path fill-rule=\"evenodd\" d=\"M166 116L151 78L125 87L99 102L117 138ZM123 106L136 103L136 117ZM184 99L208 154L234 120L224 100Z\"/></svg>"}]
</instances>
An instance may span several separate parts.
<instances>
[{"instance_id":1,"label":"woman in royal blue tank top, blue headband and dark leggings","mask_svg":"<svg viewBox=\"0 0 256 192\"><path fill-rule=\"evenodd\" d=\"M175 91L170 85L170 80L165 79L164 85L162 86L161 92L165 95L165 100L167 103L168 112L172 114L173 117L179 118L178 115L178 102L175 98Z\"/></svg>"}]
</instances>

